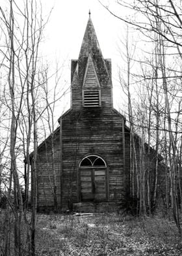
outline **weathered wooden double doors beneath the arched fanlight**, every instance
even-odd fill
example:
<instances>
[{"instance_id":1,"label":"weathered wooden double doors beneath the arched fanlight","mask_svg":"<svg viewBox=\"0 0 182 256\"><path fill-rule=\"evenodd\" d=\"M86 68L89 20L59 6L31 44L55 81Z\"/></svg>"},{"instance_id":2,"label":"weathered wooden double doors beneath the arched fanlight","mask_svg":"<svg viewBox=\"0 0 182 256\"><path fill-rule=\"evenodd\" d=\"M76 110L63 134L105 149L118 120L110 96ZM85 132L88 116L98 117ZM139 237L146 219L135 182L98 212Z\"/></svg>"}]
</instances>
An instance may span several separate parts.
<instances>
[{"instance_id":1,"label":"weathered wooden double doors beneath the arched fanlight","mask_svg":"<svg viewBox=\"0 0 182 256\"><path fill-rule=\"evenodd\" d=\"M107 168L81 167L79 172L81 201L107 200Z\"/></svg>"}]
</instances>

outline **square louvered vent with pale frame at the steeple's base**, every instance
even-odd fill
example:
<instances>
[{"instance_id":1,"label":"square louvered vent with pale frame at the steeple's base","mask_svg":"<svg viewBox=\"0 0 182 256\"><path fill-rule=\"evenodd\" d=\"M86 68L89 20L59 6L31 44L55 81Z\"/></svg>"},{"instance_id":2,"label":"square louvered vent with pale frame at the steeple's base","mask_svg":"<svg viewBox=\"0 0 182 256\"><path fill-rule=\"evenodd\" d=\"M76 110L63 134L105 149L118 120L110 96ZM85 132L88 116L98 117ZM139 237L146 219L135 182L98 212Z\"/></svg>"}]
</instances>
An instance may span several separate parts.
<instances>
[{"instance_id":1,"label":"square louvered vent with pale frame at the steeple's base","mask_svg":"<svg viewBox=\"0 0 182 256\"><path fill-rule=\"evenodd\" d=\"M83 91L84 106L100 106L99 91Z\"/></svg>"}]
</instances>

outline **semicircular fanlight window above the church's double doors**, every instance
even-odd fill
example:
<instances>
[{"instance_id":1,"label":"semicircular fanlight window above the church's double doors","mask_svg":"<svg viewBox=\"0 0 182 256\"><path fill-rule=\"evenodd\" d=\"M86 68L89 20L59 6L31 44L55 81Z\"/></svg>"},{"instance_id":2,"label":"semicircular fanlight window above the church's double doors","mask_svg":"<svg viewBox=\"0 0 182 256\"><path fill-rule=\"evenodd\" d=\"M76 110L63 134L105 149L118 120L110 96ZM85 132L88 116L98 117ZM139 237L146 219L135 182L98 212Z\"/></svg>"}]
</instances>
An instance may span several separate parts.
<instances>
[{"instance_id":1,"label":"semicircular fanlight window above the church's double doors","mask_svg":"<svg viewBox=\"0 0 182 256\"><path fill-rule=\"evenodd\" d=\"M98 155L88 155L85 157L80 165L80 167L106 167L105 161Z\"/></svg>"}]
</instances>

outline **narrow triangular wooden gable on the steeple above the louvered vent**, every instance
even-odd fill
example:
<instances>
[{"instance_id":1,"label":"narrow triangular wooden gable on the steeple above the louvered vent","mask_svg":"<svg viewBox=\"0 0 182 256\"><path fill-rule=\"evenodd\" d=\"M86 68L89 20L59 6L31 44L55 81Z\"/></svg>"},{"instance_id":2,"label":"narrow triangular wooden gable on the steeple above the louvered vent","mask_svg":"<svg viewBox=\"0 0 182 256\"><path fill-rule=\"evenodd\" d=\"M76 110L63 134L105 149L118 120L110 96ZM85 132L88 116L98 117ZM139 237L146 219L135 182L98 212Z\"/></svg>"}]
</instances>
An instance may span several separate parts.
<instances>
[{"instance_id":1,"label":"narrow triangular wooden gable on the steeple above the louvered vent","mask_svg":"<svg viewBox=\"0 0 182 256\"><path fill-rule=\"evenodd\" d=\"M90 54L88 56L88 60L86 63L85 76L83 80L83 88L84 89L100 88L98 76L96 73L96 69L94 67L94 62Z\"/></svg>"}]
</instances>

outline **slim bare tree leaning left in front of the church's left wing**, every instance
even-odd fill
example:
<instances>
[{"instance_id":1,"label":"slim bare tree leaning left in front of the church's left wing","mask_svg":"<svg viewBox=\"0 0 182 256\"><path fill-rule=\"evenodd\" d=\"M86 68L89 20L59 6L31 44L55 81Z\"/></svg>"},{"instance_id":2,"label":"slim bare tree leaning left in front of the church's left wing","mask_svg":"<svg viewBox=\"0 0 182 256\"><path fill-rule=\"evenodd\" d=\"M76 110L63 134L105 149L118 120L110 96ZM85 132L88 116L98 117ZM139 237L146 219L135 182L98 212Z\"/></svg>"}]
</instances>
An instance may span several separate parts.
<instances>
[{"instance_id":1,"label":"slim bare tree leaning left in front of the church's left wing","mask_svg":"<svg viewBox=\"0 0 182 256\"><path fill-rule=\"evenodd\" d=\"M58 66L58 63L56 65L56 71L53 72L53 74L49 74L50 68L48 65L45 67L43 71L40 72L40 84L42 84L42 89L44 92L44 114L41 115L42 123L44 125L44 138L45 138L45 152L47 155L47 130L50 138L50 150L51 150L51 158L46 156L47 161L47 171L49 176L49 185L51 188L51 193L53 195L53 201L54 201L54 210L55 212L58 212L58 199L57 199L57 171L55 168L55 153L56 153L56 146L55 146L55 123L57 123L57 120L55 121L55 107L56 103L62 99L62 97L66 93L65 88L58 88L60 78L61 78L61 72L62 67ZM49 89L50 82L54 83L54 86L51 86L51 89ZM48 128L48 129L47 129ZM51 162L51 168L49 171L49 165Z\"/></svg>"}]
</instances>

